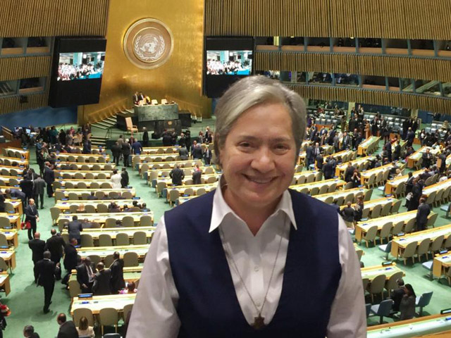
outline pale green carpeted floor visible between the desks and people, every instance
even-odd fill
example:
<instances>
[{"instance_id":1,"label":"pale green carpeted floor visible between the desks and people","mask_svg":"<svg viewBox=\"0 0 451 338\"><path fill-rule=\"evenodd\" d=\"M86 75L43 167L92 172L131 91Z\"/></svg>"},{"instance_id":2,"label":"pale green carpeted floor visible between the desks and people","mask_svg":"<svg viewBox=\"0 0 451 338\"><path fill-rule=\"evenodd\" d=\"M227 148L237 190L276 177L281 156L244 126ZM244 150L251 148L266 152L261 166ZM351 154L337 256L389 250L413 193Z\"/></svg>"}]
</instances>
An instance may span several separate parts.
<instances>
[{"instance_id":1,"label":"pale green carpeted floor visible between the desks and people","mask_svg":"<svg viewBox=\"0 0 451 338\"><path fill-rule=\"evenodd\" d=\"M194 125L191 128L192 134L197 134L198 131L206 125L213 125L212 120L204 120L204 123ZM31 150L31 162L35 163L35 151ZM37 165L32 164L32 168L37 169ZM135 187L137 196L140 196L147 206L154 211L155 219L158 220L164 211L168 210L168 204L164 203L162 199L157 199L156 194L141 180L136 172L129 171L130 185ZM378 189L373 191L372 199L377 199L383 196L383 192ZM42 239L50 237L51 218L49 207L54 205L54 199L46 198L44 201L45 208L40 211L40 222L38 224L38 231L42 233ZM406 211L401 208L400 212ZM446 225L451 223L451 220L445 218L445 213L440 211L440 208L434 208L435 212L439 213L439 217L435 226ZM16 249L17 268L11 275L11 294L7 297L3 296L1 301L6 303L11 309L12 314L7 318L8 326L4 331L7 338L22 337L22 330L24 325L34 325L35 330L41 337L55 337L58 332L58 324L56 323L56 315L58 313L69 313L70 299L68 292L63 285L57 282L53 303L50 306L50 313L42 313L42 306L44 303L44 289L36 287L33 282L31 251L27 246L26 232L20 232L19 246ZM383 262L383 253L377 247L366 249L364 247L365 255L362 256L362 261L365 266L378 265ZM397 265L405 272L405 282L412 284L416 294L433 291L433 298L431 304L425 309L425 314L439 313L443 308L451 307L451 287L446 280L429 280L426 275L426 270L420 263L408 263L407 266L399 261ZM368 301L368 300L367 300ZM391 321L390 318L385 318L386 321ZM377 318L371 318L369 325L376 324ZM100 337L100 336L99 336Z\"/></svg>"}]
</instances>

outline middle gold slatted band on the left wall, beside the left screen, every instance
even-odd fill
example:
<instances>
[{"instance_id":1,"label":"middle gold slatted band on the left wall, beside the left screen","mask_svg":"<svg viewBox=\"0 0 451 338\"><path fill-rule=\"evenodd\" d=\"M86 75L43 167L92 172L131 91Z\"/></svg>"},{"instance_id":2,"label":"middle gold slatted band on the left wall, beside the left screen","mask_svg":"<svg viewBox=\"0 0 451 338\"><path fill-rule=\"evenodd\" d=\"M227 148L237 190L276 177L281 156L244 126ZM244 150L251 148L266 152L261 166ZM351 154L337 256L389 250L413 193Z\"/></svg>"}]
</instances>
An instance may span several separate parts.
<instances>
[{"instance_id":1,"label":"middle gold slatted band on the left wall, beside the left screen","mask_svg":"<svg viewBox=\"0 0 451 338\"><path fill-rule=\"evenodd\" d=\"M51 56L0 58L0 81L47 77L50 74L50 68Z\"/></svg>"}]
</instances>

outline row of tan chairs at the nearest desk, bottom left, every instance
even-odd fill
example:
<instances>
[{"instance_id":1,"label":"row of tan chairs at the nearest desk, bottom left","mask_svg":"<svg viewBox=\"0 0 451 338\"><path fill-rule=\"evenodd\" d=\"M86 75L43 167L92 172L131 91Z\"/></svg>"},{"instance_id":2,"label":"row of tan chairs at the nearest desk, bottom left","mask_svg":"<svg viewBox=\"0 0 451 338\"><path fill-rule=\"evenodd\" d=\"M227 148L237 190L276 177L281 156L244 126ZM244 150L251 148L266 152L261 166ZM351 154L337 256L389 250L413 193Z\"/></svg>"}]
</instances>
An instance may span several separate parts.
<instances>
[{"instance_id":1,"label":"row of tan chairs at the nearest desk, bottom left","mask_svg":"<svg viewBox=\"0 0 451 338\"><path fill-rule=\"evenodd\" d=\"M122 317L125 320L128 318L129 313L132 311L133 304L124 306ZM102 308L99 311L97 318L94 318L90 308L77 308L73 311L73 321L75 325L80 323L80 318L86 317L89 326L94 327L94 324L98 324L101 327L101 334L104 334L104 326L114 326L116 332L118 332L118 325L120 320L120 313L116 308ZM105 334L104 338L121 338L121 335Z\"/></svg>"}]
</instances>

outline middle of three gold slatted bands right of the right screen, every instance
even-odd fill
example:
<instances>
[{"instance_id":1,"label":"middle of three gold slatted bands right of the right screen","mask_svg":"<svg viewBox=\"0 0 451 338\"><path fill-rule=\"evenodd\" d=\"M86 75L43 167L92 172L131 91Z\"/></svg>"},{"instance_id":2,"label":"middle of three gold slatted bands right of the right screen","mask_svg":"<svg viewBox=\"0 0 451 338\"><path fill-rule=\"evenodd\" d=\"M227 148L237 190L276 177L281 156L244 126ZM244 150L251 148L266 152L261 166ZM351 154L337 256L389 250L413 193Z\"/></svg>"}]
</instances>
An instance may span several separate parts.
<instances>
[{"instance_id":1,"label":"middle of three gold slatted bands right of the right screen","mask_svg":"<svg viewBox=\"0 0 451 338\"><path fill-rule=\"evenodd\" d=\"M451 61L407 56L257 51L256 70L297 70L451 82Z\"/></svg>"}]
</instances>

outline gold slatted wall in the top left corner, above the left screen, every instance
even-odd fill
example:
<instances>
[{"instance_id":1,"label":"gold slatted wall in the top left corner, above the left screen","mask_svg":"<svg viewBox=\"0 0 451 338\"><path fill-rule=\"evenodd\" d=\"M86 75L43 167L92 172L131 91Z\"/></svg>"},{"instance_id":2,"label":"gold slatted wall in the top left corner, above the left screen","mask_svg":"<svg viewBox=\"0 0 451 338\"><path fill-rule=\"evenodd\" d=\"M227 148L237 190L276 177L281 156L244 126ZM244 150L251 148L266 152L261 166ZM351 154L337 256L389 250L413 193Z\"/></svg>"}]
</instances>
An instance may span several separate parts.
<instances>
[{"instance_id":1,"label":"gold slatted wall in the top left corner, above the left screen","mask_svg":"<svg viewBox=\"0 0 451 338\"><path fill-rule=\"evenodd\" d=\"M104 36L110 0L1 0L0 37Z\"/></svg>"}]
</instances>

